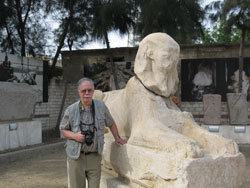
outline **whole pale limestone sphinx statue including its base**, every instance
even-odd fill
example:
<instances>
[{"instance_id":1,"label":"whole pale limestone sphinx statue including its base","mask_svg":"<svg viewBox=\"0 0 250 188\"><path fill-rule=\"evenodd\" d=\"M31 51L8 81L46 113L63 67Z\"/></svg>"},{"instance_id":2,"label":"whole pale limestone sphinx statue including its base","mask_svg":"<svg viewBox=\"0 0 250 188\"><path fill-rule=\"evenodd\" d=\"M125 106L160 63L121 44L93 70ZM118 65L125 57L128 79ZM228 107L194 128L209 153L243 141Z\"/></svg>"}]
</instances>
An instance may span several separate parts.
<instances>
[{"instance_id":1,"label":"whole pale limestone sphinx statue including its base","mask_svg":"<svg viewBox=\"0 0 250 188\"><path fill-rule=\"evenodd\" d=\"M237 187L245 167L237 144L201 128L171 100L178 85L179 52L167 34L150 34L139 46L136 76L126 87L95 92L127 139L126 145L115 147L112 135L105 135L104 168L129 187Z\"/></svg>"}]
</instances>

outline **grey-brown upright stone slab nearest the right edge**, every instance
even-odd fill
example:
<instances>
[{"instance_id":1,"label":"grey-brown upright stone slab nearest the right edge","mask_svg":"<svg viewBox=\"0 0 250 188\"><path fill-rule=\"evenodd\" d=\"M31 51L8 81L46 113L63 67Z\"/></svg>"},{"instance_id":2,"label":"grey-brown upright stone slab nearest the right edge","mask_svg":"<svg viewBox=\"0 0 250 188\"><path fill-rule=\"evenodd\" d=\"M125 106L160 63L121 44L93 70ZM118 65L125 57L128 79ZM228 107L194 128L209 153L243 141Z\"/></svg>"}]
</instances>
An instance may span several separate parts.
<instances>
[{"instance_id":1,"label":"grey-brown upright stone slab nearest the right edge","mask_svg":"<svg viewBox=\"0 0 250 188\"><path fill-rule=\"evenodd\" d=\"M247 94L228 93L227 104L230 115L230 123L233 125L246 125L248 120Z\"/></svg>"}]
</instances>

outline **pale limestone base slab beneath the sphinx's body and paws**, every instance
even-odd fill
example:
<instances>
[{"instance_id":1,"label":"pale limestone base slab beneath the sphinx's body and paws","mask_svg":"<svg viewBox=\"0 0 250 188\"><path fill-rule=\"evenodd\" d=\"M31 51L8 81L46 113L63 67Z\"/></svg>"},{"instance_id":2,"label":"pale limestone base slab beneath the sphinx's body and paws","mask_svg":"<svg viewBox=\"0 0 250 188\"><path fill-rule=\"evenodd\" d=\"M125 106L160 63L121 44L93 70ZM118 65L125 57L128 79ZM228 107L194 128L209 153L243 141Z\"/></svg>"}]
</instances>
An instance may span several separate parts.
<instances>
[{"instance_id":1,"label":"pale limestone base slab beneath the sphinx's body and paws","mask_svg":"<svg viewBox=\"0 0 250 188\"><path fill-rule=\"evenodd\" d=\"M108 161L111 161L112 166ZM242 153L223 157L205 155L202 158L182 161L172 153L129 143L116 147L113 138L107 136L103 168L111 171L111 174L122 172L127 181L113 176L108 178L109 181L102 181L102 187L235 188L242 182L244 167L245 159Z\"/></svg>"}]
</instances>

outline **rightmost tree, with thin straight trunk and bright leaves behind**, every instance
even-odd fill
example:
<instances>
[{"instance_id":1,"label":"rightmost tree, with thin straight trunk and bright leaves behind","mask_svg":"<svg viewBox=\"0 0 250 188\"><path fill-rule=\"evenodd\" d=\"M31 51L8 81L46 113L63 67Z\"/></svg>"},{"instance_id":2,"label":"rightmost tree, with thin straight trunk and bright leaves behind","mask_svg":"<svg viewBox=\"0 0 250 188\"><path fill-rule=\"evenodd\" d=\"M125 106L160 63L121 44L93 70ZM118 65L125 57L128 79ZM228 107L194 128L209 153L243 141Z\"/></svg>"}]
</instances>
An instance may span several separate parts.
<instances>
[{"instance_id":1,"label":"rightmost tree, with thin straight trunk and bright leaves behind","mask_svg":"<svg viewBox=\"0 0 250 188\"><path fill-rule=\"evenodd\" d=\"M237 28L241 31L239 51L239 92L242 92L242 71L244 59L244 43L250 31L250 0L224 0L215 1L207 6L209 10L216 10L210 18L213 21L222 20L225 23L225 33L230 33Z\"/></svg>"}]
</instances>

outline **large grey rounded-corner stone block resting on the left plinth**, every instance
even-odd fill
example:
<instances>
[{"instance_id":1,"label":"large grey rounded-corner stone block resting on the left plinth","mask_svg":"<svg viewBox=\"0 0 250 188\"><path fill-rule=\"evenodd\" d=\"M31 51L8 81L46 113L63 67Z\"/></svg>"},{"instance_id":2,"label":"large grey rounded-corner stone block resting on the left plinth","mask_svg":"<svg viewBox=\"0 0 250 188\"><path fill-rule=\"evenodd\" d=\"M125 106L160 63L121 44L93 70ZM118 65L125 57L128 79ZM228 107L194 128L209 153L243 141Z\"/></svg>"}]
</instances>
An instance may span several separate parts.
<instances>
[{"instance_id":1,"label":"large grey rounded-corner stone block resting on the left plinth","mask_svg":"<svg viewBox=\"0 0 250 188\"><path fill-rule=\"evenodd\" d=\"M36 92L25 83L0 82L0 121L31 119Z\"/></svg>"}]
</instances>

